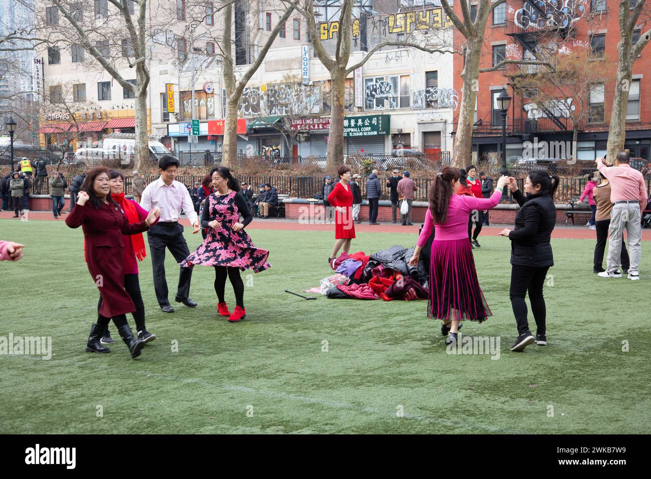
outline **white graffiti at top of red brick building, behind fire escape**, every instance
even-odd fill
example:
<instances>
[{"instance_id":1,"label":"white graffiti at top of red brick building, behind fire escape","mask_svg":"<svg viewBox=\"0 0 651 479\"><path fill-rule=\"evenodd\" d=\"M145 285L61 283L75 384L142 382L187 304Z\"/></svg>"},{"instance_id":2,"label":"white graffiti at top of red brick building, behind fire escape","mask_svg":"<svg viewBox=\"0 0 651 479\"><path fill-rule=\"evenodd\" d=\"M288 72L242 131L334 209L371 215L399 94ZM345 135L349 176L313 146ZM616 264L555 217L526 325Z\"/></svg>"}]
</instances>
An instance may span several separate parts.
<instances>
[{"instance_id":1,"label":"white graffiti at top of red brick building, behind fire escape","mask_svg":"<svg viewBox=\"0 0 651 479\"><path fill-rule=\"evenodd\" d=\"M524 3L513 20L521 28L569 27L585 13L584 0L536 0L536 7ZM509 9L511 10L511 9ZM544 14L542 13L544 12Z\"/></svg>"}]
</instances>

